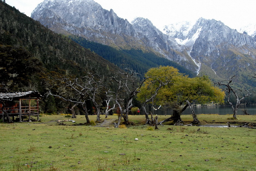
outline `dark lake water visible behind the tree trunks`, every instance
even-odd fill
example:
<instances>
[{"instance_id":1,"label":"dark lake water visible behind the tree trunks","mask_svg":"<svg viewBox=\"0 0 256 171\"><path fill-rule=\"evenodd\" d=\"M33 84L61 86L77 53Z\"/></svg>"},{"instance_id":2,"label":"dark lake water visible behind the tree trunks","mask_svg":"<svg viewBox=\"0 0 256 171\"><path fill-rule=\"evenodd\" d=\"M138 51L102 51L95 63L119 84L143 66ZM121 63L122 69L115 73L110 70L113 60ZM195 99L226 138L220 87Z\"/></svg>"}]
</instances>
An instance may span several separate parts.
<instances>
[{"instance_id":1,"label":"dark lake water visible behind the tree trunks","mask_svg":"<svg viewBox=\"0 0 256 171\"><path fill-rule=\"evenodd\" d=\"M195 114L219 114L219 115L226 115L226 114L233 114L231 106L197 106L193 107ZM237 114L244 115L243 111L246 109L247 113L250 115L256 114L256 105L240 105L238 108ZM172 109L164 109L161 107L158 110L150 110L154 115L172 115ZM182 113L182 115L191 115L191 111L189 107Z\"/></svg>"}]
</instances>

